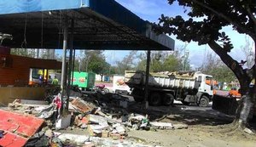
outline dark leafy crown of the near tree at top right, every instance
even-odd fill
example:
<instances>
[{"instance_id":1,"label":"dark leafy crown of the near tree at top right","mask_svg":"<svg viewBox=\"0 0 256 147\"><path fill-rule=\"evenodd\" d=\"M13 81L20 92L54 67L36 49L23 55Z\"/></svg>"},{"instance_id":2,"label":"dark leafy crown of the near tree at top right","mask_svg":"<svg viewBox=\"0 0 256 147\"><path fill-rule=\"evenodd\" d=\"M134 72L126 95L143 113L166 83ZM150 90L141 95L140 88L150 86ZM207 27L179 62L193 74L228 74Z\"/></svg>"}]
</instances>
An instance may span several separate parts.
<instances>
[{"instance_id":1,"label":"dark leafy crown of the near tree at top right","mask_svg":"<svg viewBox=\"0 0 256 147\"><path fill-rule=\"evenodd\" d=\"M247 0L168 0L170 4L177 1L178 4L189 9L189 19L183 20L182 16L175 18L162 15L160 18L160 30L177 35L177 39L183 41L195 41L207 44L211 40L221 40L227 52L232 48L230 39L220 32L224 26L232 25L239 33L246 33L255 37L255 13L256 1ZM253 16L254 15L254 16ZM201 17L198 21L195 18ZM253 23L254 21L254 23Z\"/></svg>"}]
</instances>

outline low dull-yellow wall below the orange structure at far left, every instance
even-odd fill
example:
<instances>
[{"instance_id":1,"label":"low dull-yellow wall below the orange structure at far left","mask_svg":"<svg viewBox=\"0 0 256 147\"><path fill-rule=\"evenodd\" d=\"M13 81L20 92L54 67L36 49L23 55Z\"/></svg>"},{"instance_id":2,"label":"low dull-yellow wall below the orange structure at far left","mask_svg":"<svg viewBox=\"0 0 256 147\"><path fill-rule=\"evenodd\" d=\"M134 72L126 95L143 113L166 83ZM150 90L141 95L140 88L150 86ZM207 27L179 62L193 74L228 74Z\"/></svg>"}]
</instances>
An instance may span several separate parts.
<instances>
[{"instance_id":1,"label":"low dull-yellow wall below the orange structure at far left","mask_svg":"<svg viewBox=\"0 0 256 147\"><path fill-rule=\"evenodd\" d=\"M0 105L8 105L15 99L44 100L45 88L0 88Z\"/></svg>"}]
</instances>

